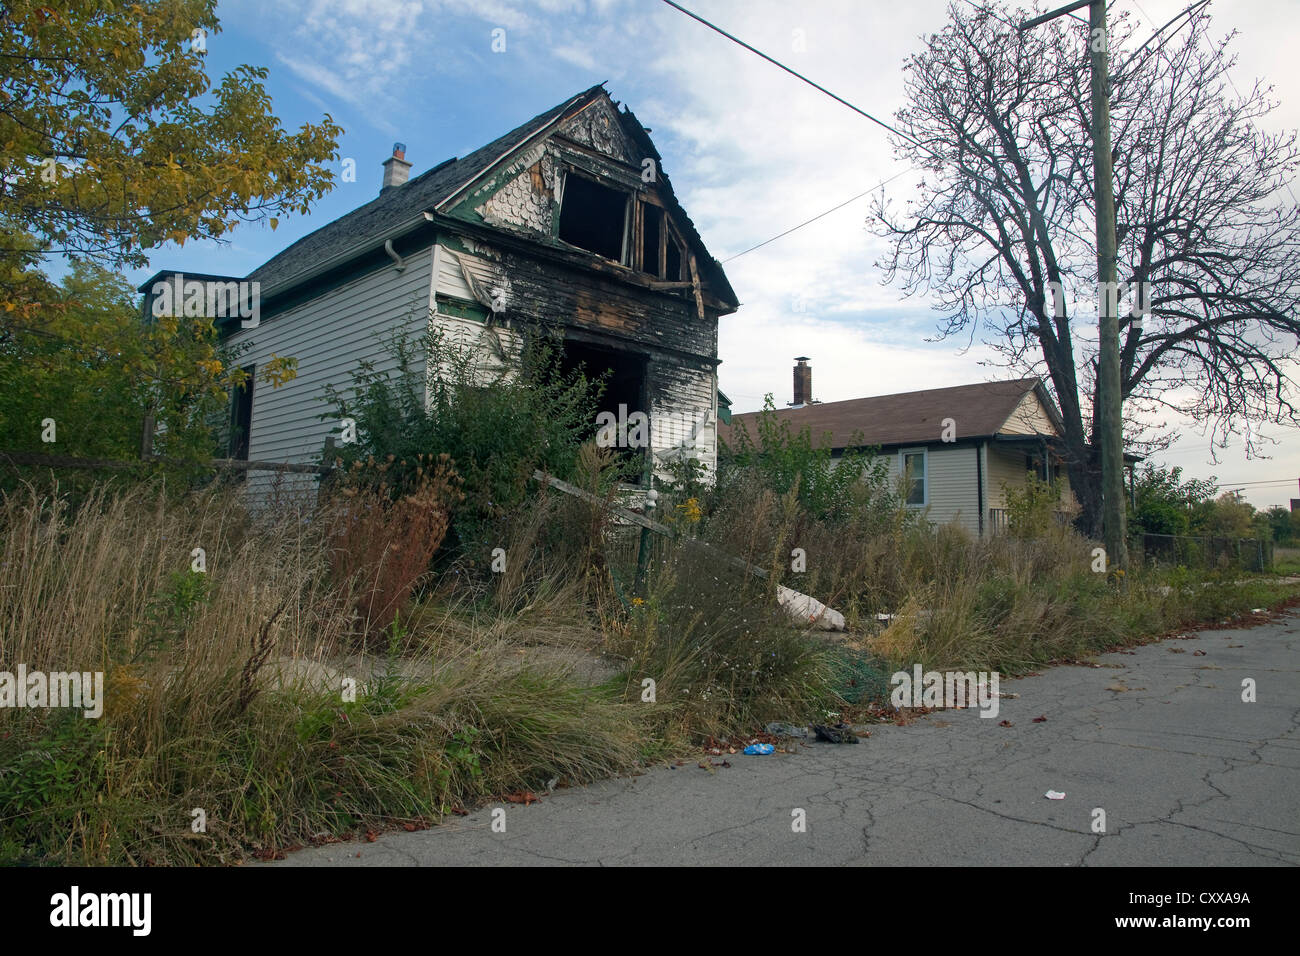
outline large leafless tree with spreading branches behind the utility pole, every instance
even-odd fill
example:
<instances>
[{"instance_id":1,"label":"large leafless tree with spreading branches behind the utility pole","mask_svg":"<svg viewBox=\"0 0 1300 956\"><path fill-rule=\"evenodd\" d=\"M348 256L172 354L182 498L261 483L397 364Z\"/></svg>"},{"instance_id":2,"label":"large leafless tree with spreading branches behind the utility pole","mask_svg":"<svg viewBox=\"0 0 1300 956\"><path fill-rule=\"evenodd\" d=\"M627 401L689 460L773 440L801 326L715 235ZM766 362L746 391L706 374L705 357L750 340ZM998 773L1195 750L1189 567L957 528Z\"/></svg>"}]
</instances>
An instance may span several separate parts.
<instances>
[{"instance_id":1,"label":"large leafless tree with spreading branches behind the utility pole","mask_svg":"<svg viewBox=\"0 0 1300 956\"><path fill-rule=\"evenodd\" d=\"M1288 182L1296 137L1262 133L1275 105L1254 83L1230 95L1231 35L1208 5L1136 43L1112 27L1112 129L1121 286L1121 385L1131 450L1176 437L1161 411L1210 428L1297 421L1300 213ZM1017 371L1043 375L1065 420L1070 483L1100 529L1096 246L1088 30L1069 18L1020 33L1022 13L953 4L950 23L905 65L898 152L926 172L881 265L928 291L941 336L982 334ZM1253 431L1251 441L1257 441ZM1252 449L1257 451L1258 449Z\"/></svg>"}]
</instances>

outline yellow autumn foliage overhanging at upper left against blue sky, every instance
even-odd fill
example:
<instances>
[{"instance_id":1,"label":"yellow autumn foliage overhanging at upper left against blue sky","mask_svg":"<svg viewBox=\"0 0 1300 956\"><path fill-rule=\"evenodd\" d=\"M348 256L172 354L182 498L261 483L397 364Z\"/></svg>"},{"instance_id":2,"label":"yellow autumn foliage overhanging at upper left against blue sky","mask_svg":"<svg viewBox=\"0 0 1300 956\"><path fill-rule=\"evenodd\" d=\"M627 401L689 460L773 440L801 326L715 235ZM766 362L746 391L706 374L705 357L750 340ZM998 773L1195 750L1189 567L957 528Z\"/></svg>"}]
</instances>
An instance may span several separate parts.
<instances>
[{"instance_id":1,"label":"yellow autumn foliage overhanging at upper left against blue sky","mask_svg":"<svg viewBox=\"0 0 1300 956\"><path fill-rule=\"evenodd\" d=\"M341 129L326 116L286 133L265 69L213 87L218 31L213 0L0 7L0 332L43 304L43 256L142 267L168 241L274 228L330 187Z\"/></svg>"}]
</instances>

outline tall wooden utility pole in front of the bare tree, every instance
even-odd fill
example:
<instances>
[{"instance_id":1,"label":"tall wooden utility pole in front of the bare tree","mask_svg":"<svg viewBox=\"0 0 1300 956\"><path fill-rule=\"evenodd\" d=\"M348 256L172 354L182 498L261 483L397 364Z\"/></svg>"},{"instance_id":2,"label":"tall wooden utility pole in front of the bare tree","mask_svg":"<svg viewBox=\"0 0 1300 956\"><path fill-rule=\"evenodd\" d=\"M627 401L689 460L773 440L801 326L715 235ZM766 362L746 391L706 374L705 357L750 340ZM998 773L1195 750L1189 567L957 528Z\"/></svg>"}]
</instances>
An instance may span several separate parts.
<instances>
[{"instance_id":1,"label":"tall wooden utility pole in front of the bare tree","mask_svg":"<svg viewBox=\"0 0 1300 956\"><path fill-rule=\"evenodd\" d=\"M1039 23L1088 8L1088 47L1092 61L1092 176L1097 198L1097 431L1101 451L1101 529L1106 566L1128 567L1128 532L1124 515L1123 399L1119 395L1119 294L1115 278L1115 193L1110 160L1110 65L1106 51L1105 0L1075 0L1020 23ZM1140 294L1140 293L1139 293Z\"/></svg>"}]
</instances>

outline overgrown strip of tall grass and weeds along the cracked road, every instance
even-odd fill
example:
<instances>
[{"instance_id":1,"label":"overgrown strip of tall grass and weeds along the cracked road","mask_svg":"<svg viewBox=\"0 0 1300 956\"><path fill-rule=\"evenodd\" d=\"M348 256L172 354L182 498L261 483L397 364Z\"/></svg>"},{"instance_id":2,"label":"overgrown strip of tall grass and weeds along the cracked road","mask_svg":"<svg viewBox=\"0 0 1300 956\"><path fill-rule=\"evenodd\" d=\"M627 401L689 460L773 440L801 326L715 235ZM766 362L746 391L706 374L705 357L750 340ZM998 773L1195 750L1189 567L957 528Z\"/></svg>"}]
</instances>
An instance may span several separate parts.
<instances>
[{"instance_id":1,"label":"overgrown strip of tall grass and weeds along the cracked road","mask_svg":"<svg viewBox=\"0 0 1300 956\"><path fill-rule=\"evenodd\" d=\"M575 480L608 497L607 467L585 453ZM603 510L536 494L489 532L504 570L448 555L376 650L358 610L373 585L338 576L320 510L250 515L234 493L156 486L75 510L0 498L0 670L107 679L100 719L0 709L0 861L230 862L436 822L767 721L828 721L913 663L1018 674L1286 591L1096 574L1092 542L1065 531L976 541L871 502L831 524L762 488L705 505L666 498L682 540L630 598ZM779 583L844 610L848 643L792 626Z\"/></svg>"}]
</instances>

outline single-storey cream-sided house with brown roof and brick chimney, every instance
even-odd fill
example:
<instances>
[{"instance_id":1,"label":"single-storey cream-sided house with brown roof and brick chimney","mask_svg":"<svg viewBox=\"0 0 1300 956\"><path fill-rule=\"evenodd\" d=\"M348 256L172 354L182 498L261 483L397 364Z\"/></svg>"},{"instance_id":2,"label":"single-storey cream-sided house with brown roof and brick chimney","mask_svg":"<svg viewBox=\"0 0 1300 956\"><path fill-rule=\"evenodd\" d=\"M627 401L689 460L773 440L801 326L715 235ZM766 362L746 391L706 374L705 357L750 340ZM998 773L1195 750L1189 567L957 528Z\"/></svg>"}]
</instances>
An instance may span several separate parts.
<instances>
[{"instance_id":1,"label":"single-storey cream-sided house with brown roof and brick chimney","mask_svg":"<svg viewBox=\"0 0 1300 956\"><path fill-rule=\"evenodd\" d=\"M1061 416L1039 378L815 402L812 369L801 356L794 398L792 407L775 414L796 432L810 428L814 442L828 437L835 457L878 447L892 480L909 476L910 507L927 509L930 520L956 522L975 535L1006 527L1004 488L1023 488L1030 472L1065 476ZM720 438L734 444L738 428L757 437L753 423L759 414L732 415ZM1067 486L1062 510L1072 505Z\"/></svg>"}]
</instances>

